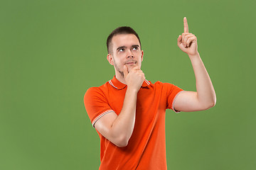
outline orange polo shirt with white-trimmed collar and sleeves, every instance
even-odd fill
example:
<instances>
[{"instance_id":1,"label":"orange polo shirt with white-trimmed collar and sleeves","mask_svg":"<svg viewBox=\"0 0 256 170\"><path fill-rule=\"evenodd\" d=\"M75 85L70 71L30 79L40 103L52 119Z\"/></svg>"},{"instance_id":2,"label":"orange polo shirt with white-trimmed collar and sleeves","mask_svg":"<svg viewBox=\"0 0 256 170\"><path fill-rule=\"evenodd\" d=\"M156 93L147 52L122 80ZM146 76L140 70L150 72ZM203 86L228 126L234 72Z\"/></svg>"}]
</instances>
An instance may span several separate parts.
<instances>
[{"instance_id":1,"label":"orange polo shirt with white-trimmed collar and sleeves","mask_svg":"<svg viewBox=\"0 0 256 170\"><path fill-rule=\"evenodd\" d=\"M85 93L85 109L94 126L102 116L122 110L127 85L114 77L99 87L91 87ZM100 132L100 169L167 169L165 113L174 110L174 101L183 91L169 83L144 80L137 96L134 131L127 147L117 147Z\"/></svg>"}]
</instances>

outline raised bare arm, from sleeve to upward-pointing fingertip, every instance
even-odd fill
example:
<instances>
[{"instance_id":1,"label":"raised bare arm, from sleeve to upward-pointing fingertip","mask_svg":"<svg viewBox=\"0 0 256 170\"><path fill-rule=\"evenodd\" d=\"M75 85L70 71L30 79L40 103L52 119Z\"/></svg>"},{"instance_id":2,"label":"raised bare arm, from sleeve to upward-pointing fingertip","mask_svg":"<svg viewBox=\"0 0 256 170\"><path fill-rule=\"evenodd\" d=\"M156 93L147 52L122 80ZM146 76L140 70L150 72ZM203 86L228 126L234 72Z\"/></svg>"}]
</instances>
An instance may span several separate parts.
<instances>
[{"instance_id":1,"label":"raised bare arm, from sleeve to upward-pointing fingertip","mask_svg":"<svg viewBox=\"0 0 256 170\"><path fill-rule=\"evenodd\" d=\"M196 77L196 92L183 91L178 94L174 103L174 109L184 112L203 111L215 106L216 95L206 67L198 53L197 38L192 33L188 33L186 17L183 18L183 23L184 33L178 36L178 47L183 52L186 52L191 60Z\"/></svg>"}]
</instances>

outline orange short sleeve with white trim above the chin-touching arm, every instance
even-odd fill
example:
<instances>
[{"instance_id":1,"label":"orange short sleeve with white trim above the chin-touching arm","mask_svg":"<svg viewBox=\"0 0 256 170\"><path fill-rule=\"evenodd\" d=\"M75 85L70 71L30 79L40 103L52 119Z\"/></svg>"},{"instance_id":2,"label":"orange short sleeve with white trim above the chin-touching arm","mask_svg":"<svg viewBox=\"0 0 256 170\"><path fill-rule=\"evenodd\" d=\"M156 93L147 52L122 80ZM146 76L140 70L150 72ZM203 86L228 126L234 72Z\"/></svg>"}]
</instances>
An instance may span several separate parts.
<instances>
[{"instance_id":1,"label":"orange short sleeve with white trim above the chin-touching arm","mask_svg":"<svg viewBox=\"0 0 256 170\"><path fill-rule=\"evenodd\" d=\"M84 103L93 127L95 127L95 122L103 115L112 112L112 108L110 108L105 94L98 87L91 87L86 91Z\"/></svg>"}]
</instances>

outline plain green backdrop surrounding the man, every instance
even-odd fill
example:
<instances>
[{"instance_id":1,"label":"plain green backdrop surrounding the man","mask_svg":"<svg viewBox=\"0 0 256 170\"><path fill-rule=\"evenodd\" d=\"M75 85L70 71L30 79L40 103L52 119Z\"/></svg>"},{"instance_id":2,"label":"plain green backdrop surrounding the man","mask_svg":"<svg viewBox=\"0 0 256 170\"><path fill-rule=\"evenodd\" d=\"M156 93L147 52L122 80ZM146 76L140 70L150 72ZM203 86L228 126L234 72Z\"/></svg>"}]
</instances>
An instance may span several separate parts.
<instances>
[{"instance_id":1,"label":"plain green backdrop surrounding the man","mask_svg":"<svg viewBox=\"0 0 256 170\"><path fill-rule=\"evenodd\" d=\"M146 79L195 91L191 62L176 45L184 16L217 103L208 111L166 111L168 169L255 169L255 6L1 0L0 169L98 169L100 140L83 96L112 79L105 41L118 26L139 33Z\"/></svg>"}]
</instances>

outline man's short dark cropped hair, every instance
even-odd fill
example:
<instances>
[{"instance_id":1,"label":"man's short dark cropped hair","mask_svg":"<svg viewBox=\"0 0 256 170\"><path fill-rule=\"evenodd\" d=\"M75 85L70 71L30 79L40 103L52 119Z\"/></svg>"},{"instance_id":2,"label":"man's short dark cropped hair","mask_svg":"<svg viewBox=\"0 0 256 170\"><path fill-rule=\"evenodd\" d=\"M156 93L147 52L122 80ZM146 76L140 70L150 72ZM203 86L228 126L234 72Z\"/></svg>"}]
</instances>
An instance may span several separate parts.
<instances>
[{"instance_id":1,"label":"man's short dark cropped hair","mask_svg":"<svg viewBox=\"0 0 256 170\"><path fill-rule=\"evenodd\" d=\"M107 37L107 52L109 54L110 54L110 51L111 51L110 50L110 46L111 46L110 44L111 44L112 38L114 37L114 35L119 35L119 34L133 34L139 40L139 35L131 27L129 27L129 26L118 27L118 28L114 29L112 31L112 33L110 33L110 35ZM142 49L142 44L141 44L140 40L139 40L139 45L140 45L140 48Z\"/></svg>"}]
</instances>

